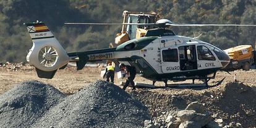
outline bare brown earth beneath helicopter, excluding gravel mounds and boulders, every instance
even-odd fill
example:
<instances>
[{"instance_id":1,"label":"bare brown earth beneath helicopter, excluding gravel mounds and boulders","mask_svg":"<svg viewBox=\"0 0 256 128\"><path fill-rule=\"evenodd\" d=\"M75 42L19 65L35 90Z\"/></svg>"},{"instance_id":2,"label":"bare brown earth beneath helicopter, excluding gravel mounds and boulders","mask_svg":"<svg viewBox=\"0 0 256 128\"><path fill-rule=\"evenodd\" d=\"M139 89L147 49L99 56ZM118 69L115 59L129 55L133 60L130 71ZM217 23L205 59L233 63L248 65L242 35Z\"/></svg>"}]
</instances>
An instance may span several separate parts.
<instances>
[{"instance_id":1,"label":"bare brown earth beneath helicopter, excluding gravel mounds and boulders","mask_svg":"<svg viewBox=\"0 0 256 128\"><path fill-rule=\"evenodd\" d=\"M104 67L85 67L83 70L75 70L67 67L59 70L53 79L40 79L35 69L28 64L9 64L0 67L0 95L14 87L15 84L25 80L38 80L49 83L63 93L73 94L82 87L95 82L100 77L100 70ZM236 74L239 82L234 82ZM159 117L168 111L184 109L192 101L199 101L205 105L215 119L223 119L223 126L230 123L240 123L243 127L256 127L256 70L237 70L229 75L226 72L218 72L216 79L210 80L209 84L226 79L218 87L212 88L139 88L131 91L132 96L138 98L150 110L151 117ZM115 84L119 85L122 80L115 78ZM150 80L140 76L135 82L149 83ZM190 82L187 80L186 82ZM172 83L172 82L168 82ZM162 86L163 82L156 82Z\"/></svg>"}]
</instances>

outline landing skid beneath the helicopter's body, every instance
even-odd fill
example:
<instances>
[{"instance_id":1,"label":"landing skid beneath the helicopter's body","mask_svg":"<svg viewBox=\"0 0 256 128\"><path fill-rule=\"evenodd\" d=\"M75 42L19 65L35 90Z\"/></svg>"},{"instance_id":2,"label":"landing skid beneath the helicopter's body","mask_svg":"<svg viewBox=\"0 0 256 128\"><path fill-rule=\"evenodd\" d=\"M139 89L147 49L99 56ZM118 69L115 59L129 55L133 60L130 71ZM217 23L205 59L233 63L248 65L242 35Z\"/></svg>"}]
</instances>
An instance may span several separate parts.
<instances>
[{"instance_id":1,"label":"landing skid beneath the helicopter's body","mask_svg":"<svg viewBox=\"0 0 256 128\"><path fill-rule=\"evenodd\" d=\"M211 87L216 87L218 85L220 85L223 80L226 77L224 77L222 80L218 81L215 85L208 85L208 81L210 79L207 79L205 81L205 83L181 83L181 84L168 84L167 86L163 86L163 87L158 87L155 85L150 85L147 83L136 83L135 87L136 88L151 88L151 89L156 89L156 88L211 88Z\"/></svg>"}]
</instances>

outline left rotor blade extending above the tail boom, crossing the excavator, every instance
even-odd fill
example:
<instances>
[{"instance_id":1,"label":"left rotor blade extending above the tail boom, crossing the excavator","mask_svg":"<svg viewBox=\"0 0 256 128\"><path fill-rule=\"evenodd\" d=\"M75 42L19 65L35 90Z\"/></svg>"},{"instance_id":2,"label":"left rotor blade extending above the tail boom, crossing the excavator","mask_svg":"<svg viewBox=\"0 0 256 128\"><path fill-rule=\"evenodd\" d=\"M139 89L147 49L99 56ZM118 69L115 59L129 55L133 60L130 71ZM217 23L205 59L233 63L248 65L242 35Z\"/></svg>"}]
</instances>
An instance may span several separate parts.
<instances>
[{"instance_id":1,"label":"left rotor blade extending above the tail boom, crossing the excavator","mask_svg":"<svg viewBox=\"0 0 256 128\"><path fill-rule=\"evenodd\" d=\"M66 25L156 25L156 23L64 23Z\"/></svg>"}]
</instances>

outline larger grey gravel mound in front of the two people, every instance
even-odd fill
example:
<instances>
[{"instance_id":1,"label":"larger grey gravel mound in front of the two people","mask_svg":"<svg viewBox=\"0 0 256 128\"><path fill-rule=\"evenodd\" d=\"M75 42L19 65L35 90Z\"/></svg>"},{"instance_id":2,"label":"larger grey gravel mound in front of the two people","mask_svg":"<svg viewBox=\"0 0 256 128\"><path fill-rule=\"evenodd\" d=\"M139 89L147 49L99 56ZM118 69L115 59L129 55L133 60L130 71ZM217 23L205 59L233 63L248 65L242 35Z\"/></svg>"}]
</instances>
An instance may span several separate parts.
<instances>
[{"instance_id":1,"label":"larger grey gravel mound in front of the two people","mask_svg":"<svg viewBox=\"0 0 256 128\"><path fill-rule=\"evenodd\" d=\"M34 127L142 127L145 106L121 88L98 80L51 108Z\"/></svg>"}]
</instances>

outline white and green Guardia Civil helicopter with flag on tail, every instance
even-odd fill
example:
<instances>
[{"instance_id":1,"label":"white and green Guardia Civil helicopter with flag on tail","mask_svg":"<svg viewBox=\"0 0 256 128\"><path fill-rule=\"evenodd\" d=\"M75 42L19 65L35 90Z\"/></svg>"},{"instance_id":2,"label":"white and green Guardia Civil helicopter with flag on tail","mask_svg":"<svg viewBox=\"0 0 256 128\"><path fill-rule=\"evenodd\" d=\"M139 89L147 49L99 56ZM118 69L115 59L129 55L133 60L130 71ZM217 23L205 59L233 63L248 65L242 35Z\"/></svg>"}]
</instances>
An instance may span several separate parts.
<instances>
[{"instance_id":1,"label":"white and green Guardia Civil helicopter with flag on tail","mask_svg":"<svg viewBox=\"0 0 256 128\"><path fill-rule=\"evenodd\" d=\"M179 24L167 19L156 23L112 23L156 25L144 37L122 43L116 48L67 53L43 22L24 23L33 41L27 61L35 66L38 77L52 79L58 69L76 62L77 70L87 62L111 59L134 66L137 73L149 80L204 79L205 85L218 70L229 63L229 56L220 48L196 38L176 35L166 26L256 26L234 24ZM72 23L71 23L72 24ZM73 23L88 24L88 23ZM89 23L90 24L90 23ZM104 23L103 23L104 24ZM212 74L212 75L211 75Z\"/></svg>"}]
</instances>

